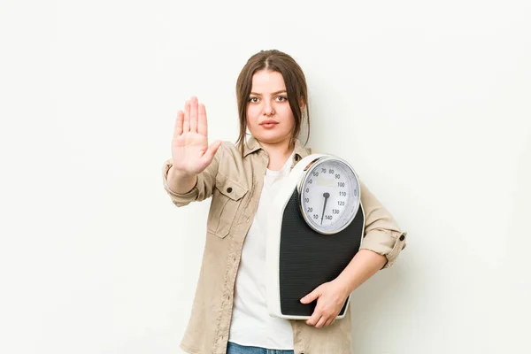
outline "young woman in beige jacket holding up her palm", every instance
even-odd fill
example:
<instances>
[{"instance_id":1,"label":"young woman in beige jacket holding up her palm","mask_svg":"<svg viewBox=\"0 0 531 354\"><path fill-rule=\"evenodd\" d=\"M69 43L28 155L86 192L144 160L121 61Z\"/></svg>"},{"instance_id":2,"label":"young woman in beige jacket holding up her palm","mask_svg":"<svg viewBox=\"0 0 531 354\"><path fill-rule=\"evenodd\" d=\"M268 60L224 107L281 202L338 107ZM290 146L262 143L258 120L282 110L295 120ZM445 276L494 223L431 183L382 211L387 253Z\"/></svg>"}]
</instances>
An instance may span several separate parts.
<instances>
[{"instance_id":1,"label":"young woman in beige jacket holding up her palm","mask_svg":"<svg viewBox=\"0 0 531 354\"><path fill-rule=\"evenodd\" d=\"M308 94L302 69L279 50L262 50L248 60L236 94L240 135L235 144L209 146L204 104L192 97L177 114L172 158L163 168L173 204L212 196L203 264L181 349L194 354L348 354L350 310L343 319L335 317L354 289L394 263L406 233L362 182L366 227L357 255L334 281L301 299L303 304L317 302L310 319L269 316L266 212L294 165L312 153L297 138L304 119L310 126Z\"/></svg>"}]
</instances>

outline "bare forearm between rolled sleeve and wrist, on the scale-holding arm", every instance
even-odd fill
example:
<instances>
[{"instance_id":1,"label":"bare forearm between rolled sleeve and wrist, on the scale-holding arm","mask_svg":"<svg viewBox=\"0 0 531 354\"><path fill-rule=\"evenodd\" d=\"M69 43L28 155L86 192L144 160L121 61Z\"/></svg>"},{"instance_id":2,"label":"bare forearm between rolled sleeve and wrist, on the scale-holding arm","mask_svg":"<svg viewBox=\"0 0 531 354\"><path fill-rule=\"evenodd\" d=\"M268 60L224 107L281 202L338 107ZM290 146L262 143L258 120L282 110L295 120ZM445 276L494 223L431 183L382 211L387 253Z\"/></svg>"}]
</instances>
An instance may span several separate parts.
<instances>
[{"instance_id":1,"label":"bare forearm between rolled sleeve and wrist, on the scale-holding arm","mask_svg":"<svg viewBox=\"0 0 531 354\"><path fill-rule=\"evenodd\" d=\"M372 250L358 250L349 265L335 279L345 290L346 295L352 293L361 284L377 273L385 264L387 258Z\"/></svg>"}]
</instances>

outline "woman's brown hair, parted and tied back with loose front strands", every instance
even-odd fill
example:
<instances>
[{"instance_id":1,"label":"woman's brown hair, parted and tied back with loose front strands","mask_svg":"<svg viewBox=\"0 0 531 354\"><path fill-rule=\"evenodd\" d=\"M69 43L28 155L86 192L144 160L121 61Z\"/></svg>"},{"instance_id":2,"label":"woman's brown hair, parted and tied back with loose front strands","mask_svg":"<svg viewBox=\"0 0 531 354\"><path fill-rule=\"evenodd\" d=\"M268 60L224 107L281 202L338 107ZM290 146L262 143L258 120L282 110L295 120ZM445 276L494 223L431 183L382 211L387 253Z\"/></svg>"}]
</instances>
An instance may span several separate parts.
<instances>
[{"instance_id":1,"label":"woman's brown hair, parted and tied back with loose front strands","mask_svg":"<svg viewBox=\"0 0 531 354\"><path fill-rule=\"evenodd\" d=\"M247 60L243 66L242 71L238 75L236 81L236 97L238 102L238 113L240 117L240 135L236 141L236 145L242 150L247 133L247 104L249 104L250 90L252 87L252 76L261 70L269 70L272 72L281 73L288 92L288 102L293 117L295 119L295 126L291 138L289 139L289 146L293 146L296 137L300 134L304 112L301 106L304 106L306 121L308 124L308 135L306 142L310 139L310 114L308 110L308 88L306 85L306 78L304 77L303 69L291 58L288 54L280 50L260 50ZM306 144L304 142L304 144Z\"/></svg>"}]
</instances>

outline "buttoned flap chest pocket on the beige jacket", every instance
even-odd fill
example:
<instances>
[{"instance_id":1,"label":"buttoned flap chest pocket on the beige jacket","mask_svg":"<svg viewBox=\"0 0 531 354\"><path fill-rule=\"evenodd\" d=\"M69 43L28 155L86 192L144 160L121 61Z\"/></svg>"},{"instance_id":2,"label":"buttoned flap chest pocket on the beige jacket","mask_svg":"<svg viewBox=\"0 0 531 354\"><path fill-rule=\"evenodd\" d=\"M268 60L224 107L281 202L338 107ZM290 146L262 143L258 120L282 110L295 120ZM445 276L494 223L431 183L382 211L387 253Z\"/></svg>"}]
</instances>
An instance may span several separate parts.
<instances>
[{"instance_id":1,"label":"buttoned flap chest pocket on the beige jacket","mask_svg":"<svg viewBox=\"0 0 531 354\"><path fill-rule=\"evenodd\" d=\"M248 189L224 173L216 175L216 186L206 223L210 234L224 238L228 235Z\"/></svg>"}]
</instances>

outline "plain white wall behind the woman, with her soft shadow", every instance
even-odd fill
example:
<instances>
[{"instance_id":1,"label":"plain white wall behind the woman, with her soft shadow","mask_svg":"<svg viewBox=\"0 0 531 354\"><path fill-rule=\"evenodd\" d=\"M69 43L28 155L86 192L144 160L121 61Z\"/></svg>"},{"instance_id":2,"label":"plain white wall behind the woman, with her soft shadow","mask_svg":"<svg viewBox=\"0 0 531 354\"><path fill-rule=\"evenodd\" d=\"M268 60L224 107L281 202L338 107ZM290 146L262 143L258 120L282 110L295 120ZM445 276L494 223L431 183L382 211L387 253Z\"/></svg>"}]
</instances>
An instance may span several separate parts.
<instances>
[{"instance_id":1,"label":"plain white wall behind the woman, with her soft shadow","mask_svg":"<svg viewBox=\"0 0 531 354\"><path fill-rule=\"evenodd\" d=\"M309 145L409 232L354 293L355 352L527 352L528 1L0 4L0 352L181 353L210 201L162 189L173 121L196 95L235 141L236 76L273 48Z\"/></svg>"}]
</instances>

